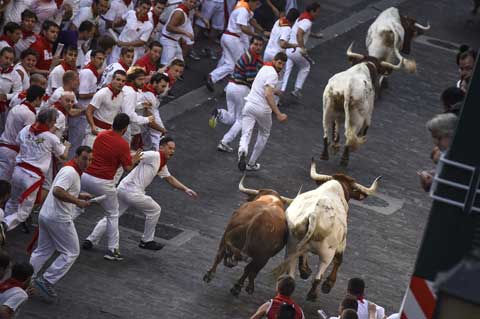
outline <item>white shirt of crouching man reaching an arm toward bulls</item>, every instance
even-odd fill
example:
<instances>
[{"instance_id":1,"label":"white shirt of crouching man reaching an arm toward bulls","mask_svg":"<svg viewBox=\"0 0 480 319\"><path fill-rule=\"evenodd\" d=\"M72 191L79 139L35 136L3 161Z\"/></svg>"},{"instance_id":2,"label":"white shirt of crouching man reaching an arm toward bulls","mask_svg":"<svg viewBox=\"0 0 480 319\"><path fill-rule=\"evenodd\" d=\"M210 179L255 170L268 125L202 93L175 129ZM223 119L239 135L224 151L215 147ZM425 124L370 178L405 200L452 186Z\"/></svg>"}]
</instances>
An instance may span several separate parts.
<instances>
[{"instance_id":1,"label":"white shirt of crouching man reaching an arm toward bulls","mask_svg":"<svg viewBox=\"0 0 480 319\"><path fill-rule=\"evenodd\" d=\"M160 169L160 153L157 151L143 152L140 163L120 182L118 189L128 192L145 193L155 176L165 178L170 176L167 165Z\"/></svg>"}]
</instances>

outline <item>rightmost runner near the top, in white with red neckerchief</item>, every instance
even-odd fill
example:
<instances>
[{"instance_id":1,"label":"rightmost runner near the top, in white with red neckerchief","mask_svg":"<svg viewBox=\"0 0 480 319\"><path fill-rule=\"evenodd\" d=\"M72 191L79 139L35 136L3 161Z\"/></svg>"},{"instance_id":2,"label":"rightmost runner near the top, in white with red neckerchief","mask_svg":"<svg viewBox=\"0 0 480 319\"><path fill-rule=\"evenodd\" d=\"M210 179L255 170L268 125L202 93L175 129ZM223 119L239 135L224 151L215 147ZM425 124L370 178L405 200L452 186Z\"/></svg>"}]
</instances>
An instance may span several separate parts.
<instances>
[{"instance_id":1,"label":"rightmost runner near the top, in white with red neckerchief","mask_svg":"<svg viewBox=\"0 0 480 319\"><path fill-rule=\"evenodd\" d=\"M307 79L308 73L310 73L310 62L305 58L307 55L307 41L310 35L320 38L319 33L313 33L312 24L320 15L320 4L314 2L309 4L305 11L298 17L297 21L292 27L292 33L290 34L290 43L296 45L298 48L287 49L288 61L285 66L285 76L282 83L282 92L285 92L288 85L288 78L292 73L293 66L296 65L299 70L297 74L297 80L295 81L295 89L292 91L292 95L295 97L301 97L301 90L303 84Z\"/></svg>"}]
</instances>

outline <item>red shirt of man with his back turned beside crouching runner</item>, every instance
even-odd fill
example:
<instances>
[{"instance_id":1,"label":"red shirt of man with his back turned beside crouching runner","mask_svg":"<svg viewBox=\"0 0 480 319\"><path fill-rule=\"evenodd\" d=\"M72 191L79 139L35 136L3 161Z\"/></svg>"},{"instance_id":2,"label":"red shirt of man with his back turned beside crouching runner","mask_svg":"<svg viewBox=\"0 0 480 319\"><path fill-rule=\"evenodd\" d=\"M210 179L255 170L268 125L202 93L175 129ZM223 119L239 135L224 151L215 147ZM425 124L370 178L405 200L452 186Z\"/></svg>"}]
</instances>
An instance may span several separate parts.
<instances>
[{"instance_id":1,"label":"red shirt of man with his back turned beside crouching runner","mask_svg":"<svg viewBox=\"0 0 480 319\"><path fill-rule=\"evenodd\" d=\"M97 178L113 180L120 165L132 165L127 141L111 130L98 133L93 143L93 161L85 172Z\"/></svg>"}]
</instances>

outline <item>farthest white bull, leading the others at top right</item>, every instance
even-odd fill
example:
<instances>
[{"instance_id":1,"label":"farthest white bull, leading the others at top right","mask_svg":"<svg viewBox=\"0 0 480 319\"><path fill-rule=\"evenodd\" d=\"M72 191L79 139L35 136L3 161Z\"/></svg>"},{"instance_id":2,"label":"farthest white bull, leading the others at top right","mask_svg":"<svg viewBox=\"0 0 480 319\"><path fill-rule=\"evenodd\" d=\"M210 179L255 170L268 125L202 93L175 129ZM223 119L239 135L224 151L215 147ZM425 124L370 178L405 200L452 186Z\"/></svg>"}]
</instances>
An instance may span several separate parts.
<instances>
[{"instance_id":1,"label":"farthest white bull, leading the others at top right","mask_svg":"<svg viewBox=\"0 0 480 319\"><path fill-rule=\"evenodd\" d=\"M430 25L422 26L415 19L400 15L397 8L390 7L380 13L368 28L365 41L368 55L382 61L395 63L395 58L403 61L408 72L415 72L414 60L407 60L400 52L409 54L414 37L430 29Z\"/></svg>"}]
</instances>

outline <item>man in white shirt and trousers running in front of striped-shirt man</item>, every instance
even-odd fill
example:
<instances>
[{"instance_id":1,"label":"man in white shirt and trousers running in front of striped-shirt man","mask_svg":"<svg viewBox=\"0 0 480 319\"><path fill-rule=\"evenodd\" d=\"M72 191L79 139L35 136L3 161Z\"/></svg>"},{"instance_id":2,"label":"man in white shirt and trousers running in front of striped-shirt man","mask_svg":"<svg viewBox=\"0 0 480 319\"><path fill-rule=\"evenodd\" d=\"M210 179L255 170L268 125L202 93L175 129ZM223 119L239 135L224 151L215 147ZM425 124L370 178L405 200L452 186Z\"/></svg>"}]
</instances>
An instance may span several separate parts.
<instances>
[{"instance_id":1,"label":"man in white shirt and trousers running in front of striped-shirt man","mask_svg":"<svg viewBox=\"0 0 480 319\"><path fill-rule=\"evenodd\" d=\"M238 168L241 171L245 169L257 171L260 169L257 159L262 154L270 136L271 113L275 113L279 122L287 120L287 115L280 112L274 97L274 94L278 93L275 88L278 82L278 74L282 71L286 61L287 55L285 53L277 53L271 63L266 63L260 69L255 81L253 81L250 93L245 98L247 102L242 114L242 137L238 147ZM257 141L247 164L248 145L255 123L258 124Z\"/></svg>"}]
</instances>

